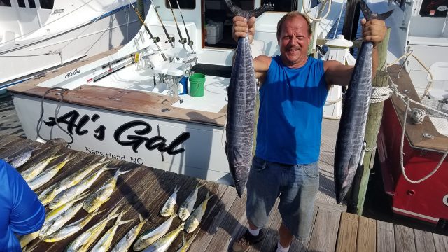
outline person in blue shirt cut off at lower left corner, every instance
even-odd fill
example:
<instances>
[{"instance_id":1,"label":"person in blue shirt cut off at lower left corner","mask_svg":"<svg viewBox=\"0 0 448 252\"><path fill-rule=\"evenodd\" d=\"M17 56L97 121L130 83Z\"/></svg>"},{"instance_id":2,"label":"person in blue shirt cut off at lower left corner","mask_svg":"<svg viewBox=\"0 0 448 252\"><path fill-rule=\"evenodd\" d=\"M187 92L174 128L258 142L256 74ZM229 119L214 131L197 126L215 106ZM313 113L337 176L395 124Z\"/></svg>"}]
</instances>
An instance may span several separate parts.
<instances>
[{"instance_id":1,"label":"person in blue shirt cut off at lower left corner","mask_svg":"<svg viewBox=\"0 0 448 252\"><path fill-rule=\"evenodd\" d=\"M0 251L22 251L15 237L36 232L45 209L20 173L0 160Z\"/></svg>"}]
</instances>

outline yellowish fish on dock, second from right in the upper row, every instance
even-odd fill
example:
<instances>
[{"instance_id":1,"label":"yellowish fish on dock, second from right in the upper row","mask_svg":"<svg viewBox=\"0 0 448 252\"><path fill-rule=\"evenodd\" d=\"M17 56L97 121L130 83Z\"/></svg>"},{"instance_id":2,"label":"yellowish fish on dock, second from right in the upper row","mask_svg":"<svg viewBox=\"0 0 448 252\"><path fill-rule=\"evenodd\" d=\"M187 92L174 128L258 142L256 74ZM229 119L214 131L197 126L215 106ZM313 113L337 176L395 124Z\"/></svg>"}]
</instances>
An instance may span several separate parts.
<instances>
[{"instance_id":1,"label":"yellowish fish on dock, second from right in the upper row","mask_svg":"<svg viewBox=\"0 0 448 252\"><path fill-rule=\"evenodd\" d=\"M83 193L85 190L87 190L87 188L90 188L90 186L92 186L92 184L95 181L97 181L99 176L101 176L101 174L104 171L111 170L111 169L116 169L116 168L108 168L107 165L104 165L104 167L102 167L102 169L99 169L98 172L91 174L83 181L80 181L79 183L77 183L75 186L72 186L71 188L67 188L66 190L63 190L61 193L56 195L56 197L52 200L52 202L50 202L50 205L48 207L50 209L55 209L59 206L62 206L66 202L69 202L71 199L73 199L80 193Z\"/></svg>"}]
</instances>

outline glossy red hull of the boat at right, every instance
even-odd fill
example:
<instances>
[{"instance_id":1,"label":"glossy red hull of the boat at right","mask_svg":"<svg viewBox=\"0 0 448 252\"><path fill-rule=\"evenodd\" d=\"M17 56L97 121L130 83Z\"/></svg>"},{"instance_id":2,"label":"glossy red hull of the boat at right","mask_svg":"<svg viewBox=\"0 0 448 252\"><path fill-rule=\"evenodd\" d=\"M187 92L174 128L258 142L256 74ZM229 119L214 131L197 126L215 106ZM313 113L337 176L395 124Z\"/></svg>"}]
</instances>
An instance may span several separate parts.
<instances>
[{"instance_id":1,"label":"glossy red hull of the boat at right","mask_svg":"<svg viewBox=\"0 0 448 252\"><path fill-rule=\"evenodd\" d=\"M396 214L417 218L430 223L448 220L448 161L421 183L409 183L400 169L402 124L391 99L384 102L384 115L378 135L378 154L384 189L392 197ZM414 181L430 174L444 153L416 148L405 135L403 165L409 179Z\"/></svg>"}]
</instances>

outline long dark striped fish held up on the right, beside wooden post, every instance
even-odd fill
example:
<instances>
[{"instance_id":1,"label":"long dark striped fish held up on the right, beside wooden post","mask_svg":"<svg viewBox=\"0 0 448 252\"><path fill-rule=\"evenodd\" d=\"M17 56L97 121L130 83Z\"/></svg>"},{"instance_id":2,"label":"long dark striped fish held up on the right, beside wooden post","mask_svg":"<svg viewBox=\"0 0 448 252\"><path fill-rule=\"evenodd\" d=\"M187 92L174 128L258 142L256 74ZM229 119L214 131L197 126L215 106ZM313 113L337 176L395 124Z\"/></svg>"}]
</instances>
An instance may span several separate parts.
<instances>
[{"instance_id":1,"label":"long dark striped fish held up on the right, beside wooden post","mask_svg":"<svg viewBox=\"0 0 448 252\"><path fill-rule=\"evenodd\" d=\"M360 1L360 6L367 20L385 20L392 14L392 10L382 14L372 13L363 0ZM349 191L358 165L362 165L360 157L372 94L372 51L373 43L363 42L344 98L335 149L337 204L342 202Z\"/></svg>"}]
</instances>

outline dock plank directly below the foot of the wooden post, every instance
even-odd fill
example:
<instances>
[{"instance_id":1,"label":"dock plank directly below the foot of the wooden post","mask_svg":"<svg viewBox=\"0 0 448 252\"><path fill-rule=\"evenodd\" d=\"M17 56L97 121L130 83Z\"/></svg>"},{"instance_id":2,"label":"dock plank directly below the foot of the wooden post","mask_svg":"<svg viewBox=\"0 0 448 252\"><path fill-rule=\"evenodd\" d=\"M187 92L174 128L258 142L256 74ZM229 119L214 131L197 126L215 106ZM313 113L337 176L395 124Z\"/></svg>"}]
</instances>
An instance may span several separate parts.
<instances>
[{"instance_id":1,"label":"dock plank directly below the foot of the wooden post","mask_svg":"<svg viewBox=\"0 0 448 252\"><path fill-rule=\"evenodd\" d=\"M356 251L358 216L342 212L337 235L336 251Z\"/></svg>"}]
</instances>

